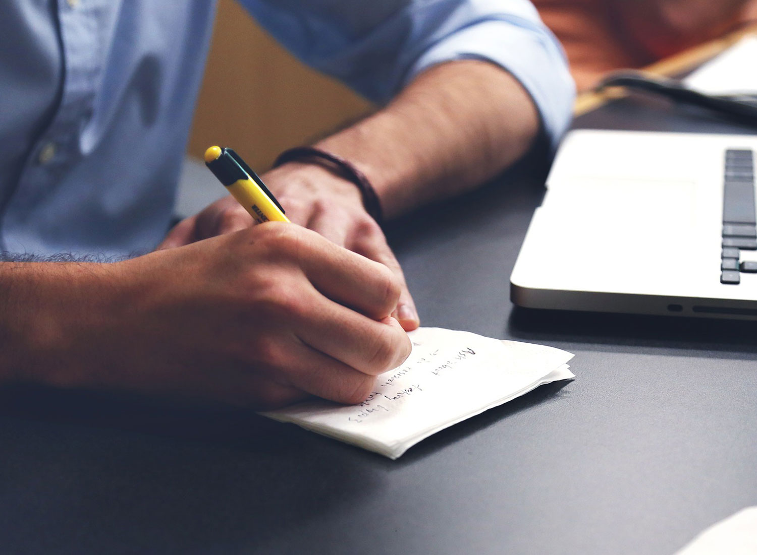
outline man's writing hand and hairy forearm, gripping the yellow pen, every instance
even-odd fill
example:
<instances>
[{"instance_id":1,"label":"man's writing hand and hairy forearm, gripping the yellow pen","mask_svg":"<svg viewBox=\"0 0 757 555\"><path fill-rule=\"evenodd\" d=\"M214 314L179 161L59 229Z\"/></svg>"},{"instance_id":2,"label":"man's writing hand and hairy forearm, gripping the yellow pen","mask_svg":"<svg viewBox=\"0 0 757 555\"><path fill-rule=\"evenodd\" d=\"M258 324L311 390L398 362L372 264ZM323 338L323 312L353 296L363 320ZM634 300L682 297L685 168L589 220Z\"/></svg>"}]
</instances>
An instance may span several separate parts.
<instances>
[{"instance_id":1,"label":"man's writing hand and hairy forearm, gripping the yellow pen","mask_svg":"<svg viewBox=\"0 0 757 555\"><path fill-rule=\"evenodd\" d=\"M9 328L13 348L3 349L6 368L25 369L16 379L257 409L309 395L358 403L410 353L389 317L398 278L297 225L266 223L110 265L5 270L14 294L30 295Z\"/></svg>"}]
</instances>

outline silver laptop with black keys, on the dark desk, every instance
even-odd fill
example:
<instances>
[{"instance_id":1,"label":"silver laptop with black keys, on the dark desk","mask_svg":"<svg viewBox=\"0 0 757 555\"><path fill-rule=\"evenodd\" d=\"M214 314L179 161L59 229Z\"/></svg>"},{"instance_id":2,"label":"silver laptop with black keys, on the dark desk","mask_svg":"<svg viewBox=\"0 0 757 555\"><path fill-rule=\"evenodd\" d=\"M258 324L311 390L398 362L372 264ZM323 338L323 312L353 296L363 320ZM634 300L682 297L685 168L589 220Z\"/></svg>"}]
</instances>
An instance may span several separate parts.
<instances>
[{"instance_id":1,"label":"silver laptop with black keys, on the dark desk","mask_svg":"<svg viewBox=\"0 0 757 555\"><path fill-rule=\"evenodd\" d=\"M570 133L512 302L757 320L755 164L757 136Z\"/></svg>"}]
</instances>

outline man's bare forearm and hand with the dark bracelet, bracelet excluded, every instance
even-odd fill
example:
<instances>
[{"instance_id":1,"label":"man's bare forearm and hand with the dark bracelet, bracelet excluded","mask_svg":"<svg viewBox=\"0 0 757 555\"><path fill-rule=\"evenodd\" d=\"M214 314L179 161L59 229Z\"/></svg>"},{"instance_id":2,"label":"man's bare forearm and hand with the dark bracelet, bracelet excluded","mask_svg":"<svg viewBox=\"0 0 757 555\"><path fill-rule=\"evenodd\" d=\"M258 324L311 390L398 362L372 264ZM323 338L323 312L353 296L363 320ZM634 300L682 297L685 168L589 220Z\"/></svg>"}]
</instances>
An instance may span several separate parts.
<instances>
[{"instance_id":1,"label":"man's bare forearm and hand with the dark bracelet, bracelet excluded","mask_svg":"<svg viewBox=\"0 0 757 555\"><path fill-rule=\"evenodd\" d=\"M360 169L385 216L393 218L493 178L528 151L538 129L536 106L514 76L486 61L458 60L421 73L387 107L315 146ZM354 184L299 163L285 164L263 181L292 222L391 268L401 285L393 314L405 330L418 327L400 265ZM159 248L251 223L229 197L180 222Z\"/></svg>"}]
</instances>

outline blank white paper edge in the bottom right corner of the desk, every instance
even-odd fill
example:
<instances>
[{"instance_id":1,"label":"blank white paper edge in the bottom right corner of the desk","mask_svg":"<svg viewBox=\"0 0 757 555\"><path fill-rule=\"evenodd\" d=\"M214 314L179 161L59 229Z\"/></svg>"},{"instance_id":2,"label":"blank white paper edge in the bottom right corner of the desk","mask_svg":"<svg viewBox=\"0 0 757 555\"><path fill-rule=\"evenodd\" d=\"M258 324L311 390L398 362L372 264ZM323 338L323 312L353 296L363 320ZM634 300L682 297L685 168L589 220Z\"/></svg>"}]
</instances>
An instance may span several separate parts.
<instances>
[{"instance_id":1,"label":"blank white paper edge in the bottom right corner of the desk","mask_svg":"<svg viewBox=\"0 0 757 555\"><path fill-rule=\"evenodd\" d=\"M754 555L757 553L757 507L740 510L696 536L676 555Z\"/></svg>"}]
</instances>

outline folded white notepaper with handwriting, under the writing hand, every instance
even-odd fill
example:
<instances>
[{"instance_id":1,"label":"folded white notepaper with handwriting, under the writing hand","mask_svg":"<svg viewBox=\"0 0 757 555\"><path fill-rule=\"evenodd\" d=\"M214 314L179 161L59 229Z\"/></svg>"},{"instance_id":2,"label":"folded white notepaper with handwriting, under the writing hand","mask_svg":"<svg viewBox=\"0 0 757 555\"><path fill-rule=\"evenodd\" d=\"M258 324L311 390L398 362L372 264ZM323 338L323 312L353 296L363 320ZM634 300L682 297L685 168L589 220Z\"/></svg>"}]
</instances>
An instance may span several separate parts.
<instances>
[{"instance_id":1,"label":"folded white notepaper with handwriting, under the writing hand","mask_svg":"<svg viewBox=\"0 0 757 555\"><path fill-rule=\"evenodd\" d=\"M422 327L413 352L355 406L316 400L263 413L391 459L441 429L545 383L575 377L569 352L466 331Z\"/></svg>"}]
</instances>

